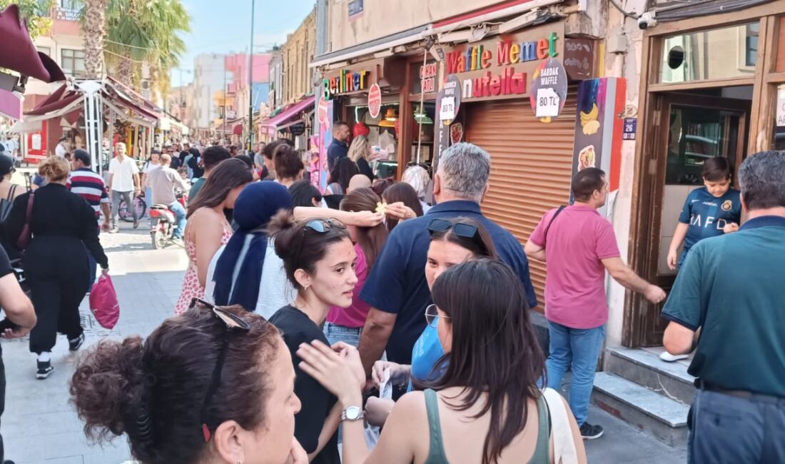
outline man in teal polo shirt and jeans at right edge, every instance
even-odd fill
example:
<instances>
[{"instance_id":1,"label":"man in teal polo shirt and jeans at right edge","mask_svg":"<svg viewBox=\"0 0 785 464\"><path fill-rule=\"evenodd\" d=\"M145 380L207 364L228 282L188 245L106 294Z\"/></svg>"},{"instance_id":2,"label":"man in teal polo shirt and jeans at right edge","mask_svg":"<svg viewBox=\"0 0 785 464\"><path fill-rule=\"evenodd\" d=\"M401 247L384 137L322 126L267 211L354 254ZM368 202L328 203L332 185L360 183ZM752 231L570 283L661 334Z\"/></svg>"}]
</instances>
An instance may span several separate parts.
<instances>
[{"instance_id":1,"label":"man in teal polo shirt and jeans at right edge","mask_svg":"<svg viewBox=\"0 0 785 464\"><path fill-rule=\"evenodd\" d=\"M668 352L696 349L689 462L785 462L785 152L739 184L749 219L692 247L663 309Z\"/></svg>"}]
</instances>

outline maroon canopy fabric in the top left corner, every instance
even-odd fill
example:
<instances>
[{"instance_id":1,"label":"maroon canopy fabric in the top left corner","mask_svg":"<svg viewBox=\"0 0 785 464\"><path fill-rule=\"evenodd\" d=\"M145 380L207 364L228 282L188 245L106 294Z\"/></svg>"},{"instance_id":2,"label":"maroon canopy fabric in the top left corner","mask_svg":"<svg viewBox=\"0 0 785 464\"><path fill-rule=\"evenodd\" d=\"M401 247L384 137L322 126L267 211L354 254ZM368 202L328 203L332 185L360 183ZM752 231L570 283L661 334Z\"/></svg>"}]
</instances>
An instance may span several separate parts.
<instances>
[{"instance_id":1,"label":"maroon canopy fabric in the top left corner","mask_svg":"<svg viewBox=\"0 0 785 464\"><path fill-rule=\"evenodd\" d=\"M0 68L16 71L44 82L64 81L65 75L57 63L39 53L27 31L27 24L20 20L19 6L9 5L0 13Z\"/></svg>"}]
</instances>

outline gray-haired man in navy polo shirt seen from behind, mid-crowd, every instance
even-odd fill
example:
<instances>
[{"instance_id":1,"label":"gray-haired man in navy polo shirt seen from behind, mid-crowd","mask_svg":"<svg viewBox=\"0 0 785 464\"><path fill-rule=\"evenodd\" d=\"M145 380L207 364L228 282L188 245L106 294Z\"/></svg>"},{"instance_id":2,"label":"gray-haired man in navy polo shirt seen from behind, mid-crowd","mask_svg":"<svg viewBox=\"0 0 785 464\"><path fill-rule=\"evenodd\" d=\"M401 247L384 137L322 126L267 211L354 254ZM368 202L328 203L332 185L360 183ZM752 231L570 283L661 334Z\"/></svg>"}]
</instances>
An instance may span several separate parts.
<instances>
[{"instance_id":1,"label":"gray-haired man in navy polo shirt seen from behind, mid-crowd","mask_svg":"<svg viewBox=\"0 0 785 464\"><path fill-rule=\"evenodd\" d=\"M480 221L491 234L499 258L520 277L529 306L537 305L520 242L480 213L490 174L491 157L482 148L466 143L447 148L433 178L436 206L425 216L403 221L392 229L360 292L360 298L371 305L360 337L360 357L367 374L385 349L388 360L411 364L411 349L425 329L425 307L431 303L425 261L430 243L428 223L434 217Z\"/></svg>"}]
</instances>

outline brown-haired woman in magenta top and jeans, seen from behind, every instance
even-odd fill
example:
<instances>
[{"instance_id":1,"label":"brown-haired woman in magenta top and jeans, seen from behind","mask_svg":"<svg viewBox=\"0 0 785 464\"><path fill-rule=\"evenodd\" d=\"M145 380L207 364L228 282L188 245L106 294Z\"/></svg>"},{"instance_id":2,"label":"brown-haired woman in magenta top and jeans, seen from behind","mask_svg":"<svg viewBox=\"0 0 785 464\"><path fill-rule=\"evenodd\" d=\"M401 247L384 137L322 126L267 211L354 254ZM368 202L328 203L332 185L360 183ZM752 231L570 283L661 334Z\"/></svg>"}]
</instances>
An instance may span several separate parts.
<instances>
[{"instance_id":1,"label":"brown-haired woman in magenta top and jeans, seen from behind","mask_svg":"<svg viewBox=\"0 0 785 464\"><path fill-rule=\"evenodd\" d=\"M375 211L381 201L371 188L357 188L344 195L341 199L342 211ZM333 306L327 313L327 322L324 323L324 335L330 345L336 342L346 342L349 345L360 345L360 332L365 327L365 318L371 306L360 300L360 290L387 240L387 228L383 224L374 227L356 227L348 225L349 234L352 236L354 250L357 254L355 272L357 284L352 295L352 304L348 307Z\"/></svg>"}]
</instances>

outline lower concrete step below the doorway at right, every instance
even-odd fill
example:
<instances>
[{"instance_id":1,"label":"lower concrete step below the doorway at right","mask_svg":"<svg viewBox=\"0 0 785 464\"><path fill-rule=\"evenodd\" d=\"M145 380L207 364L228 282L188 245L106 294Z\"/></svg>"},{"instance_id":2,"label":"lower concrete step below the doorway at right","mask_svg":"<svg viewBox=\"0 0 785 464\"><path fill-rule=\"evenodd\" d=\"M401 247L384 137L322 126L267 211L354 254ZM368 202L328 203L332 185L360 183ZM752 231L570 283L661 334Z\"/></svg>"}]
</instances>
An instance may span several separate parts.
<instances>
[{"instance_id":1,"label":"lower concrete step below the doorway at right","mask_svg":"<svg viewBox=\"0 0 785 464\"><path fill-rule=\"evenodd\" d=\"M687 445L685 404L609 372L597 372L592 402L665 444Z\"/></svg>"}]
</instances>

